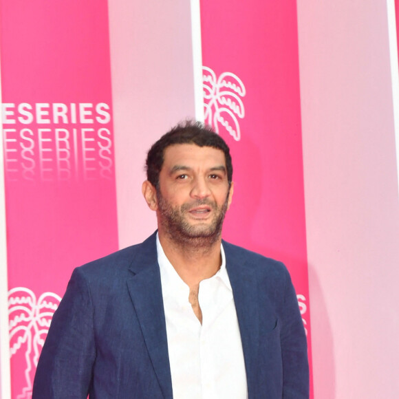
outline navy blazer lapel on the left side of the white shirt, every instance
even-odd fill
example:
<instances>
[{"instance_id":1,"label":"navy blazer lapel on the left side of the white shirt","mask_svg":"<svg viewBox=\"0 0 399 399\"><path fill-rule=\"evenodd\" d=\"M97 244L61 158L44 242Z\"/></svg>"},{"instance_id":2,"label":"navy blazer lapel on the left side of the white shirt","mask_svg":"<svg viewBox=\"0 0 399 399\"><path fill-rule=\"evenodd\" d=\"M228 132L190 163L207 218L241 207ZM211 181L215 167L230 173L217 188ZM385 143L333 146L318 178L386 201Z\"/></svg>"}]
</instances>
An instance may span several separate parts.
<instances>
[{"instance_id":1,"label":"navy blazer lapel on the left side of the white shirt","mask_svg":"<svg viewBox=\"0 0 399 399\"><path fill-rule=\"evenodd\" d=\"M155 233L141 245L127 285L164 398L173 398Z\"/></svg>"}]
</instances>

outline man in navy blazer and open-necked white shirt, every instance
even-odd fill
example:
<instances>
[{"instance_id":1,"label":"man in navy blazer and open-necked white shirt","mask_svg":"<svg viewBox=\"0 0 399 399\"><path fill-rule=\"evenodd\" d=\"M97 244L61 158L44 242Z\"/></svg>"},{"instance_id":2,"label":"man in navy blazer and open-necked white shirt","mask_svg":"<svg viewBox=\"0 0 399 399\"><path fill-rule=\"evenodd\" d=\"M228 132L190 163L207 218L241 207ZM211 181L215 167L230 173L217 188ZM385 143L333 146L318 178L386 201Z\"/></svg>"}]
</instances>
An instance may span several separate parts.
<instances>
[{"instance_id":1,"label":"man in navy blazer and open-necked white shirt","mask_svg":"<svg viewBox=\"0 0 399 399\"><path fill-rule=\"evenodd\" d=\"M288 271L222 241L232 176L199 123L153 144L142 193L158 232L74 270L32 398L308 398Z\"/></svg>"}]
</instances>

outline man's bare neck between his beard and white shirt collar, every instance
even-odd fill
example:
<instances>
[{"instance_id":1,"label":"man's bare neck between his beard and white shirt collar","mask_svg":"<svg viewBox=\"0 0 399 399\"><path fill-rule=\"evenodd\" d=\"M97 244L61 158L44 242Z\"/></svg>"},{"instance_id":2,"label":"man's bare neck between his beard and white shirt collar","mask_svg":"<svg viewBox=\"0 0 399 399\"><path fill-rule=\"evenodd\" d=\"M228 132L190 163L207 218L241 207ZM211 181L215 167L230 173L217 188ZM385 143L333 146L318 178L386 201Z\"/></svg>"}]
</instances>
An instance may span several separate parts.
<instances>
[{"instance_id":1,"label":"man's bare neck between his beard and white shirt collar","mask_svg":"<svg viewBox=\"0 0 399 399\"><path fill-rule=\"evenodd\" d=\"M220 237L213 244L204 246L200 239L180 243L162 232L158 234L166 257L190 288L197 287L200 281L212 277L222 265Z\"/></svg>"}]
</instances>

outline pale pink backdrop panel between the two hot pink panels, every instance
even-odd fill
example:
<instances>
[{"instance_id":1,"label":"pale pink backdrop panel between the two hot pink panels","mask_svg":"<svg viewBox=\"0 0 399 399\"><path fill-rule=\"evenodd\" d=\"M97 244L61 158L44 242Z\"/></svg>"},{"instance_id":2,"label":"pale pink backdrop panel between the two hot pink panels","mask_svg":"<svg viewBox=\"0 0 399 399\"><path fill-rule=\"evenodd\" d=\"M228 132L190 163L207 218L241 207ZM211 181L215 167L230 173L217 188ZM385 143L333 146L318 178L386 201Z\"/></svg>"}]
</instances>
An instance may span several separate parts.
<instances>
[{"instance_id":1,"label":"pale pink backdrop panel between the two hot pink panels","mask_svg":"<svg viewBox=\"0 0 399 399\"><path fill-rule=\"evenodd\" d=\"M120 248L156 228L141 193L151 144L195 116L190 1L109 0Z\"/></svg>"}]
</instances>

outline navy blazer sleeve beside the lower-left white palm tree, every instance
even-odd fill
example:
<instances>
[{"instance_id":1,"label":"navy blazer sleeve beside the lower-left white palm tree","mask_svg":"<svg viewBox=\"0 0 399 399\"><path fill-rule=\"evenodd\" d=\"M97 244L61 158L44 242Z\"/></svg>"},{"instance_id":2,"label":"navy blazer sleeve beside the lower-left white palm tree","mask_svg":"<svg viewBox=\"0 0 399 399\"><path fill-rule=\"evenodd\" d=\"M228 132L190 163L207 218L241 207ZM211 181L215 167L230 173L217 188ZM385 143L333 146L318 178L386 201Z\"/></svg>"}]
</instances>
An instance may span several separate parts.
<instances>
[{"instance_id":1,"label":"navy blazer sleeve beside the lower-left white palm tree","mask_svg":"<svg viewBox=\"0 0 399 399\"><path fill-rule=\"evenodd\" d=\"M54 313L34 378L32 399L86 399L96 358L93 303L76 268Z\"/></svg>"}]
</instances>

